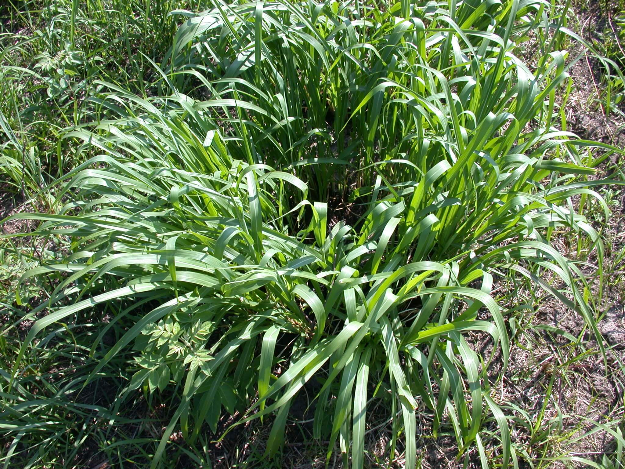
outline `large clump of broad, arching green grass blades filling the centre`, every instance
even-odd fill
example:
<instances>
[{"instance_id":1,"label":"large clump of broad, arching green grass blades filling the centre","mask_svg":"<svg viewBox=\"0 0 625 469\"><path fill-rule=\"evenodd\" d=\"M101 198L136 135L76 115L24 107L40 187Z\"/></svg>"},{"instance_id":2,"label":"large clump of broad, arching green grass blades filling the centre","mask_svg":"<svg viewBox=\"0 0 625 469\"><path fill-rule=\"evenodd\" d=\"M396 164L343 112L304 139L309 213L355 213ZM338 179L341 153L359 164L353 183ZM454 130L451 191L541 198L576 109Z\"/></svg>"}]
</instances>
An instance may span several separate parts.
<instances>
[{"instance_id":1,"label":"large clump of broad, arching green grass blades filling the centre","mask_svg":"<svg viewBox=\"0 0 625 469\"><path fill-rule=\"evenodd\" d=\"M459 457L516 461L509 426L533 423L506 415L497 386L524 305L500 306L513 296L495 286L545 290L603 346L591 293L602 241L578 208L593 199L607 216L593 190L606 181L587 176L622 152L562 129L567 5L201 7L171 13L175 34L164 16L144 30L171 41L124 69L136 83L86 79L93 113L59 129L80 164L54 182L52 213L10 219L40 221L37 239L62 248L22 276L46 278L47 299L27 305L19 322L35 321L2 371L14 403L2 413L14 438L5 463L63 431L48 426L54 399L33 391L29 351L80 328L86 372L57 395L118 383L109 425L129 419L138 389L163 396L158 446L133 440L152 466L170 461L178 431L187 454L206 446L224 413L233 426L271 423L274 455L304 391L328 460L340 451L363 466L375 405L392 420L391 460L401 448L408 468L420 412ZM531 64L519 58L529 40L541 44ZM574 260L550 244L554 229L575 236ZM491 351L476 350L476 334ZM487 454L493 438L500 449Z\"/></svg>"}]
</instances>

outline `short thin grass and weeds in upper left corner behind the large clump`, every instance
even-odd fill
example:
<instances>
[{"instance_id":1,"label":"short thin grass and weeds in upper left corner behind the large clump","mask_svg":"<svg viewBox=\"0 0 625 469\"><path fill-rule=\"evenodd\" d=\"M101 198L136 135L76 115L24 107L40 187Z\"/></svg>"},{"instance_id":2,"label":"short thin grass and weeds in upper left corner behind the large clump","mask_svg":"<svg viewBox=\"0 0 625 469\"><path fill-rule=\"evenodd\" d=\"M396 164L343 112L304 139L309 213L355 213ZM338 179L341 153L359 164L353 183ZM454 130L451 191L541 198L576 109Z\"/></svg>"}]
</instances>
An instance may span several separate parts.
<instances>
[{"instance_id":1,"label":"short thin grass and weeds in upper left corner behind the large clump","mask_svg":"<svg viewBox=\"0 0 625 469\"><path fill-rule=\"evenodd\" d=\"M154 73L149 61L163 58L176 32L169 12L187 6L184 1L158 1L147 8L126 0L4 2L2 181L31 197L71 169L76 161L59 136L67 126L93 121L89 98L101 92L96 80L133 92L149 89ZM14 29L6 31L7 24Z\"/></svg>"}]
</instances>

